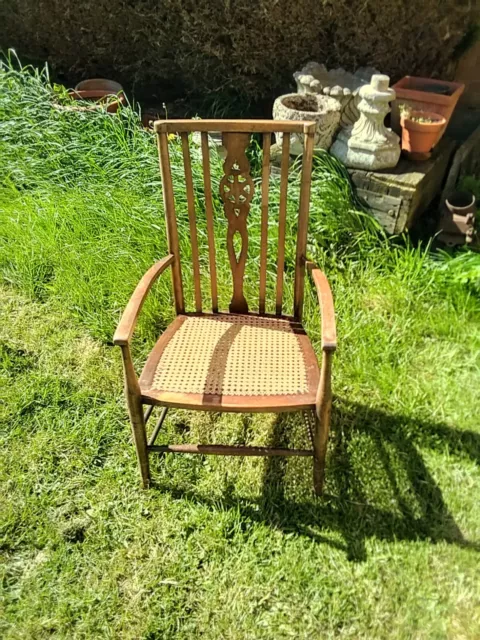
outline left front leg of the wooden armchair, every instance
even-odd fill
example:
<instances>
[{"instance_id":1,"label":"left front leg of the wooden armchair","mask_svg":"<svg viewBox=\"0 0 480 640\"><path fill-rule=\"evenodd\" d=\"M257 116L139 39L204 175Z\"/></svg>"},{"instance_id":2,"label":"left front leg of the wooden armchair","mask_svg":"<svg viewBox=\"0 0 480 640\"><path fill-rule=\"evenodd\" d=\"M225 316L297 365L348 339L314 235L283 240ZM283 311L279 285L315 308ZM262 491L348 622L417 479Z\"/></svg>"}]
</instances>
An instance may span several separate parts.
<instances>
[{"instance_id":1,"label":"left front leg of the wooden armchair","mask_svg":"<svg viewBox=\"0 0 480 640\"><path fill-rule=\"evenodd\" d=\"M123 372L125 375L125 397L127 399L128 413L132 425L133 440L137 450L138 466L140 467L143 488L148 489L150 486L150 465L148 461L147 433L145 429L145 419L143 417L140 386L135 374L129 345L121 345L121 349Z\"/></svg>"}]
</instances>

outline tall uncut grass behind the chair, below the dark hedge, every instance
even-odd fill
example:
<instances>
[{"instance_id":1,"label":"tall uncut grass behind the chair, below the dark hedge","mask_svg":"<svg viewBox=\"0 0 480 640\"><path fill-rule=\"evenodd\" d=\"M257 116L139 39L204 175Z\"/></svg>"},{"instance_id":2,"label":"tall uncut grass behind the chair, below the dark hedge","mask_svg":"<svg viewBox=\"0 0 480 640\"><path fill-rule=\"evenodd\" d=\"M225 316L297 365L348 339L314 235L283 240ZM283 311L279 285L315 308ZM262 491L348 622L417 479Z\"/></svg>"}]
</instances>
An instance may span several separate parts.
<instances>
[{"instance_id":1,"label":"tall uncut grass behind the chair, below the dark hedge","mask_svg":"<svg viewBox=\"0 0 480 640\"><path fill-rule=\"evenodd\" d=\"M52 85L48 69L22 68L13 55L0 73L0 154L2 209L0 269L3 278L40 300L58 298L103 340L110 339L120 309L141 274L166 253L162 190L155 136L142 128L138 109L116 114L72 108L62 87ZM188 271L190 244L183 160L177 140L171 143L179 234ZM258 144L252 147L252 167L258 168ZM206 228L203 216L202 165L192 142L192 169L202 267L208 278ZM230 269L225 251L226 221L218 198L223 175L220 158L212 158L219 291L228 304ZM257 176L258 177L258 176ZM269 264L274 282L278 179L272 177ZM299 173L289 185L287 272L293 268ZM312 183L312 255L342 255L370 242L373 219L356 210L345 170L328 154L316 158ZM256 190L249 217L250 259L247 282L256 297L260 238L260 192ZM287 281L290 283L289 279ZM287 290L291 291L291 288ZM208 291L204 283L204 291ZM252 299L253 299L252 297ZM170 284L162 279L147 309L153 317L169 318Z\"/></svg>"}]
</instances>

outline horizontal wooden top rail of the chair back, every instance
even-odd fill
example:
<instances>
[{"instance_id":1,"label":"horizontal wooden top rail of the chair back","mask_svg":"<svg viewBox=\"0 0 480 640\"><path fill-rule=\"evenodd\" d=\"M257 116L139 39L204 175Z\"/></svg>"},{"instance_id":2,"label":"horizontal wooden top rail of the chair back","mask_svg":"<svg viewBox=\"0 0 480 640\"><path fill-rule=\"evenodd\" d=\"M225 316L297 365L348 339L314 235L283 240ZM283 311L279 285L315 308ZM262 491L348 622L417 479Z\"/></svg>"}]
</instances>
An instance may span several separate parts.
<instances>
[{"instance_id":1,"label":"horizontal wooden top rail of the chair back","mask_svg":"<svg viewBox=\"0 0 480 640\"><path fill-rule=\"evenodd\" d=\"M311 133L315 130L315 123L303 120L157 120L154 129L156 133Z\"/></svg>"}]
</instances>

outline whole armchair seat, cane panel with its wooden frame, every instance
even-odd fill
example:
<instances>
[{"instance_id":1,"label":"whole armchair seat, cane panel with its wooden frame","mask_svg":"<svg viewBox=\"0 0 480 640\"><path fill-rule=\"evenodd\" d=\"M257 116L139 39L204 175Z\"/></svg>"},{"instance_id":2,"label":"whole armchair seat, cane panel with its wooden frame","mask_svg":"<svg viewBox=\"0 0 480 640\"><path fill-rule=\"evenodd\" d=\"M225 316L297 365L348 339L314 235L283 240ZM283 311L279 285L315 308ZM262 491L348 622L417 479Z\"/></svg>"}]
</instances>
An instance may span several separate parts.
<instances>
[{"instance_id":1,"label":"whole armchair seat, cane panel with its wooden frame","mask_svg":"<svg viewBox=\"0 0 480 640\"><path fill-rule=\"evenodd\" d=\"M319 370L302 325L258 315L179 315L140 377L145 402L236 411L315 406Z\"/></svg>"}]
</instances>

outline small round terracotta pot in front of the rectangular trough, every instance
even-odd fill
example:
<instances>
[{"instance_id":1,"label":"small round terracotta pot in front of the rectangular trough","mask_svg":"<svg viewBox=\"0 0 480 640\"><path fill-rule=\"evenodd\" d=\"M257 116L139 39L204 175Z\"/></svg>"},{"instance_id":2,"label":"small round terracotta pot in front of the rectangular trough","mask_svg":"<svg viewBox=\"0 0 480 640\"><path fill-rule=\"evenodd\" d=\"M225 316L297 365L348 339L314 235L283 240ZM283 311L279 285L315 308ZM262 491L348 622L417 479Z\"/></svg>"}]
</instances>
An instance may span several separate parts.
<instances>
[{"instance_id":1,"label":"small round terracotta pot in front of the rectangular trough","mask_svg":"<svg viewBox=\"0 0 480 640\"><path fill-rule=\"evenodd\" d=\"M399 108L402 151L406 151L413 160L428 160L443 131L445 118L430 111L412 111L405 105Z\"/></svg>"}]
</instances>

